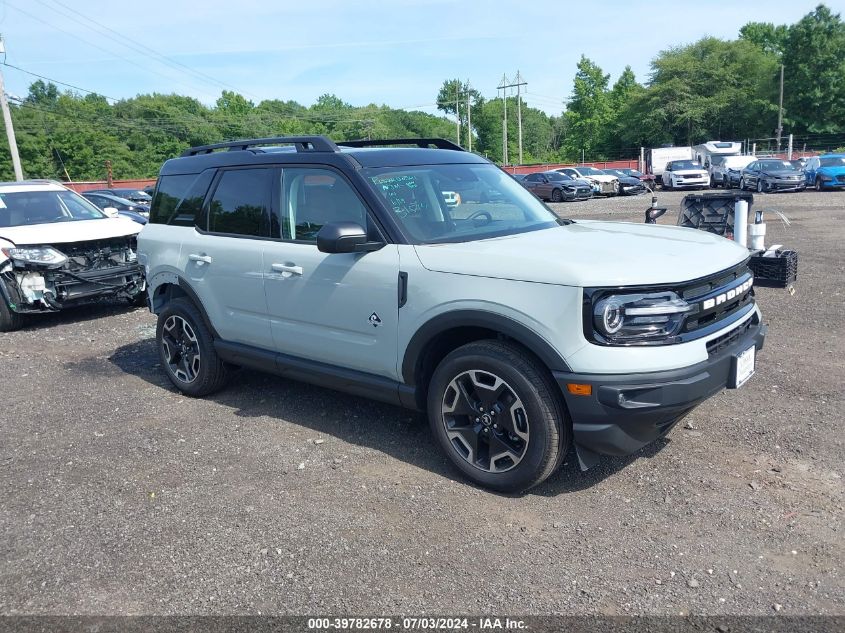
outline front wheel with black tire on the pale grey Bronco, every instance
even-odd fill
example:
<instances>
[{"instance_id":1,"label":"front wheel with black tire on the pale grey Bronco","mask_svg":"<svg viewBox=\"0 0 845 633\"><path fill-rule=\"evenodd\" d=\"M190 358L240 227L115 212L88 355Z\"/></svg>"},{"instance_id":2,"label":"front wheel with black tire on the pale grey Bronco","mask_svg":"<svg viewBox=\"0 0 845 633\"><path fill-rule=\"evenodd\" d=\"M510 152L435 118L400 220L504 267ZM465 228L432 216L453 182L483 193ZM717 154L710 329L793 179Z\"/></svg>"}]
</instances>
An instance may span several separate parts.
<instances>
[{"instance_id":1,"label":"front wheel with black tire on the pale grey Bronco","mask_svg":"<svg viewBox=\"0 0 845 633\"><path fill-rule=\"evenodd\" d=\"M470 394L456 387L467 380ZM498 393L489 387L498 385L496 380L501 381L502 395L484 395L485 390ZM468 413L455 414L462 396L463 402L475 404L460 407ZM492 408L485 413L482 403L491 398ZM510 407L505 415L503 406ZM497 340L468 343L443 359L429 382L428 419L440 447L461 473L485 488L508 493L527 490L548 478L560 466L572 437L569 417L548 372L521 347ZM497 420L502 422L500 427ZM447 425L463 431L453 431L450 438ZM470 436L469 443L457 435ZM473 441L476 450L470 446ZM513 450L491 455L503 446Z\"/></svg>"}]
</instances>

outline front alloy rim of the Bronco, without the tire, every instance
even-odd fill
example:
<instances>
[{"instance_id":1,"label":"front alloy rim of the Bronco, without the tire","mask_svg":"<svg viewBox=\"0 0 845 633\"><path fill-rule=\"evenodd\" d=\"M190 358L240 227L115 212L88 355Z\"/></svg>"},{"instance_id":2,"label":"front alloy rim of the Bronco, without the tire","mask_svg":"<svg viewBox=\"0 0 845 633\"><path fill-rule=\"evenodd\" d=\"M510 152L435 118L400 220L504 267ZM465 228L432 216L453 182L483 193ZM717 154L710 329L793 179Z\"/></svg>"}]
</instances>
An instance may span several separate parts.
<instances>
[{"instance_id":1,"label":"front alloy rim of the Bronco, without the tire","mask_svg":"<svg viewBox=\"0 0 845 633\"><path fill-rule=\"evenodd\" d=\"M441 419L455 452L479 470L515 468L528 448L528 414L513 388L483 370L464 371L443 394Z\"/></svg>"}]
</instances>

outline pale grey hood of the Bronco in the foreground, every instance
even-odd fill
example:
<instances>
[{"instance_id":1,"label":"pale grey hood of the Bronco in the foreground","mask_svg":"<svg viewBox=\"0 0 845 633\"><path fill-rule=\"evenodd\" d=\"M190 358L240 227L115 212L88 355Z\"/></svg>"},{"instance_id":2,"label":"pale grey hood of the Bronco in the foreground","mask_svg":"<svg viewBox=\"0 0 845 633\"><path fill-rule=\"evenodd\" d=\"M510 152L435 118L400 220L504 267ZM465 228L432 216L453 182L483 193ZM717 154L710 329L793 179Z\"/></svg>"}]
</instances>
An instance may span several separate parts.
<instances>
[{"instance_id":1,"label":"pale grey hood of the Bronco in the foreground","mask_svg":"<svg viewBox=\"0 0 845 633\"><path fill-rule=\"evenodd\" d=\"M414 248L436 272L581 287L678 283L748 258L742 246L698 229L595 220Z\"/></svg>"}]
</instances>

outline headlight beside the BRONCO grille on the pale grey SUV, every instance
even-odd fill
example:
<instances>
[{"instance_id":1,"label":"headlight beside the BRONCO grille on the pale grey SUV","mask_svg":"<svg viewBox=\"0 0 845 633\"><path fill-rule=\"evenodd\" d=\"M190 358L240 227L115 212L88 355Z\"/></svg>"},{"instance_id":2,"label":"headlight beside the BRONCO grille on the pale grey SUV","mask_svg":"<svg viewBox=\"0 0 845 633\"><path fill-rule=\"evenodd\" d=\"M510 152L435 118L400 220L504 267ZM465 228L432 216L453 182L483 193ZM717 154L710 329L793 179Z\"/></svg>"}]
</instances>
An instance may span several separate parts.
<instances>
[{"instance_id":1,"label":"headlight beside the BRONCO grille on the pale grey SUV","mask_svg":"<svg viewBox=\"0 0 845 633\"><path fill-rule=\"evenodd\" d=\"M666 342L681 329L684 315L694 309L670 291L636 294L598 291L592 296L595 300L591 314L585 317L589 316L593 340L605 345Z\"/></svg>"}]
</instances>

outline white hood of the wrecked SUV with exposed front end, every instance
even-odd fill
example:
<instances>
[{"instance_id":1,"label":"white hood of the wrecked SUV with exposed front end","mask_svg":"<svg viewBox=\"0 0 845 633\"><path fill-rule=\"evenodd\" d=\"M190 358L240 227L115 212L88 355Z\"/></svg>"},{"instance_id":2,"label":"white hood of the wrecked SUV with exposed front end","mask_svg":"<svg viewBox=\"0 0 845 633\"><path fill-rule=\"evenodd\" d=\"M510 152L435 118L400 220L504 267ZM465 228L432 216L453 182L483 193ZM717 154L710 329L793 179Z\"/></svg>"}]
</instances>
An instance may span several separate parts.
<instances>
[{"instance_id":1,"label":"white hood of the wrecked SUV with exposed front end","mask_svg":"<svg viewBox=\"0 0 845 633\"><path fill-rule=\"evenodd\" d=\"M15 246L37 246L136 235L140 230L141 225L137 222L125 217L116 217L0 227L0 239Z\"/></svg>"}]
</instances>

